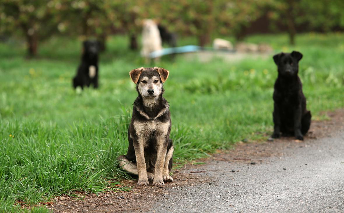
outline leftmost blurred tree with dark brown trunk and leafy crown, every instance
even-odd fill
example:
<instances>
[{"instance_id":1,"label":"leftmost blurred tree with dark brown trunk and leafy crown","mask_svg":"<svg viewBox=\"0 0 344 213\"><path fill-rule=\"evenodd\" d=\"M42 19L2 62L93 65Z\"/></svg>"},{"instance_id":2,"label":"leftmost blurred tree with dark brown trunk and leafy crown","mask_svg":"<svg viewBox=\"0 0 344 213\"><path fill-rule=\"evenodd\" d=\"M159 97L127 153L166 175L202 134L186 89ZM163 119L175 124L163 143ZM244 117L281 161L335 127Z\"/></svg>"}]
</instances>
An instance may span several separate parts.
<instances>
[{"instance_id":1,"label":"leftmost blurred tree with dark brown trunk and leafy crown","mask_svg":"<svg viewBox=\"0 0 344 213\"><path fill-rule=\"evenodd\" d=\"M2 0L0 31L17 33L19 28L25 36L29 56L34 56L38 42L58 31L57 26L62 19L58 12L60 9L61 4L47 4L45 0Z\"/></svg>"}]
</instances>

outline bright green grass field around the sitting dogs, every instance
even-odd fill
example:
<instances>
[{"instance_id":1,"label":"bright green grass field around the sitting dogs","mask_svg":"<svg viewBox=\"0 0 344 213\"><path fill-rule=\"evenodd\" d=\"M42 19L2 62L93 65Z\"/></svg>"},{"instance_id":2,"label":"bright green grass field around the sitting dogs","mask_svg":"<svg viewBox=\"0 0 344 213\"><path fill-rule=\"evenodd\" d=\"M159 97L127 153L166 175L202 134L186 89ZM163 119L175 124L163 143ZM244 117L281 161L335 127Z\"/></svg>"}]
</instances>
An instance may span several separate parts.
<instances>
[{"instance_id":1,"label":"bright green grass field around the sitting dogs","mask_svg":"<svg viewBox=\"0 0 344 213\"><path fill-rule=\"evenodd\" d=\"M127 176L116 158L126 152L137 97L128 73L150 66L127 50L127 40L110 38L100 56L100 88L81 93L71 87L80 60L77 39L42 43L39 57L31 60L24 57L24 43L0 43L1 212L17 212L17 201L35 204L75 190L126 190L118 185ZM313 119L324 119L321 111L343 108L344 34L302 34L295 47L286 35L247 41L303 53L300 77ZM190 38L179 45L195 43ZM272 133L277 71L271 57L202 63L180 55L154 65L170 71L164 97L171 105L174 163Z\"/></svg>"}]
</instances>

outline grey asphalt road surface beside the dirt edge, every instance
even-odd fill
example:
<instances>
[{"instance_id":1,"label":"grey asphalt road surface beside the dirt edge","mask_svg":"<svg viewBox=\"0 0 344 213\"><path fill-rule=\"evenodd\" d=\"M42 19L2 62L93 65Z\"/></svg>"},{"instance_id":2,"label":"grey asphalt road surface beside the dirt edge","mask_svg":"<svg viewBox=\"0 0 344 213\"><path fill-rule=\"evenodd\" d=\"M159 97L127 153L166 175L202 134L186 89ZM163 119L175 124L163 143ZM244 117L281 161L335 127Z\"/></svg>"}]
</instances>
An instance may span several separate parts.
<instances>
[{"instance_id":1,"label":"grey asphalt road surface beside the dirt edge","mask_svg":"<svg viewBox=\"0 0 344 213\"><path fill-rule=\"evenodd\" d=\"M205 171L197 176L207 181L166 188L149 212L344 212L343 130L291 140L279 151L255 164L213 160L193 168L187 172Z\"/></svg>"}]
</instances>

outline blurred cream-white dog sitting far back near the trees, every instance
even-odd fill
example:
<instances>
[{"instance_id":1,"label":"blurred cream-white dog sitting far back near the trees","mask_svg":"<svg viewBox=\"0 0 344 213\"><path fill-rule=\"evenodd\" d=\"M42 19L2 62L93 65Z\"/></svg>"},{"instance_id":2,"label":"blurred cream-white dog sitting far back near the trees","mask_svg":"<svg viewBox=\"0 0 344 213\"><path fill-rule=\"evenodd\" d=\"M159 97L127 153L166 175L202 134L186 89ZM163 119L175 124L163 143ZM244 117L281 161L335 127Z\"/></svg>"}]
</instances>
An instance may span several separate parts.
<instances>
[{"instance_id":1,"label":"blurred cream-white dog sitting far back near the trees","mask_svg":"<svg viewBox=\"0 0 344 213\"><path fill-rule=\"evenodd\" d=\"M152 19L143 20L141 55L148 62L149 53L161 49L161 37L157 24ZM159 58L155 58L154 60L159 60Z\"/></svg>"}]
</instances>

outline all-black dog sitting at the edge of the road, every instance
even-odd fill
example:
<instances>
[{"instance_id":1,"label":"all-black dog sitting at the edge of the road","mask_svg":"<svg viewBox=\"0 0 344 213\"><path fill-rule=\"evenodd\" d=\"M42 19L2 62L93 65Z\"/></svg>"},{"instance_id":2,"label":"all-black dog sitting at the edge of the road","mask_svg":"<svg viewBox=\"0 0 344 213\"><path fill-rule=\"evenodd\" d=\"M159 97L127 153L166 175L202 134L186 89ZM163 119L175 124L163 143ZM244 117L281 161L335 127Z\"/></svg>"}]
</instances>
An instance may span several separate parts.
<instances>
[{"instance_id":1,"label":"all-black dog sitting at the edge of the road","mask_svg":"<svg viewBox=\"0 0 344 213\"><path fill-rule=\"evenodd\" d=\"M279 53L273 56L278 67L278 77L273 92L274 108L272 137L293 134L303 140L311 125L311 112L306 109L306 98L302 92L302 83L298 76L299 61L302 54L297 51Z\"/></svg>"}]
</instances>

